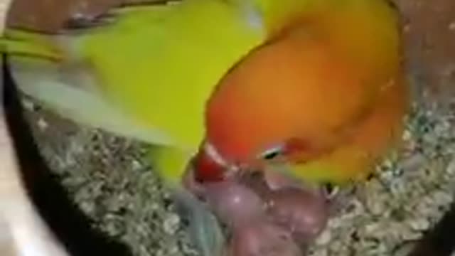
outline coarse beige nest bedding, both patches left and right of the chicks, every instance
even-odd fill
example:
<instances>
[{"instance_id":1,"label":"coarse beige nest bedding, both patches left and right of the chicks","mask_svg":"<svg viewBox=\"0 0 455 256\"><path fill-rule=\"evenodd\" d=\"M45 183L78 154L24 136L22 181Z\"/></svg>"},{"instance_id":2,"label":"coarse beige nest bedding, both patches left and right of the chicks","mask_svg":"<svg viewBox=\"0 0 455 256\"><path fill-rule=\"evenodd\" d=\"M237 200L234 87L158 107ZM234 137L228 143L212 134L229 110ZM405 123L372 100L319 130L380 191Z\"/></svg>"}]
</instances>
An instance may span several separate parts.
<instances>
[{"instance_id":1,"label":"coarse beige nest bedding, both patches left and right of the chicks","mask_svg":"<svg viewBox=\"0 0 455 256\"><path fill-rule=\"evenodd\" d=\"M29 100L26 106L43 155L96 228L126 242L134 255L197 255L169 191L144 159L144 145L76 127ZM347 205L310 255L406 255L454 198L454 122L450 105L414 104L405 154L346 192Z\"/></svg>"}]
</instances>

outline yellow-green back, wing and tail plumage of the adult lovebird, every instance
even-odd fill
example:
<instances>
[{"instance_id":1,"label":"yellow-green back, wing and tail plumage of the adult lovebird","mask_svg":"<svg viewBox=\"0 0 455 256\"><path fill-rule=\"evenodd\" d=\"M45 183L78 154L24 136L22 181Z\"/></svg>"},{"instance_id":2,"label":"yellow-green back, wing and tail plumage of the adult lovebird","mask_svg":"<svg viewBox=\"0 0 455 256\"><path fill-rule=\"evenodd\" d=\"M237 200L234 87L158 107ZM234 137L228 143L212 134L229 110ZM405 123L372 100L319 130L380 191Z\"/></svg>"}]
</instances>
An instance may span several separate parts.
<instances>
[{"instance_id":1,"label":"yellow-green back, wing and tail plumage of the adult lovebird","mask_svg":"<svg viewBox=\"0 0 455 256\"><path fill-rule=\"evenodd\" d=\"M154 150L157 169L175 181L203 139L218 80L267 36L249 2L115 9L104 26L53 36L10 29L1 43L23 92L77 122L165 146Z\"/></svg>"}]
</instances>

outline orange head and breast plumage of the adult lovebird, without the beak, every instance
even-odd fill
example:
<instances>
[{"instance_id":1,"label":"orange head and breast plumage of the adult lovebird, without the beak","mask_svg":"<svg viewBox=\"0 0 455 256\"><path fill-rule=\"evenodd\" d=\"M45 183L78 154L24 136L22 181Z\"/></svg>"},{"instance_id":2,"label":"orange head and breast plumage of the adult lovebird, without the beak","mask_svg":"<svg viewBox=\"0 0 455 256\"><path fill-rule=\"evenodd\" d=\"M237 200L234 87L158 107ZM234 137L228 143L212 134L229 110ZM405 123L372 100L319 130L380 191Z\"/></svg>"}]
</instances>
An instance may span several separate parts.
<instances>
[{"instance_id":1,"label":"orange head and breast plumage of the adult lovebird, without the beak","mask_svg":"<svg viewBox=\"0 0 455 256\"><path fill-rule=\"evenodd\" d=\"M232 163L346 181L400 137L407 110L397 14L382 0L321 1L225 75L208 102L207 139ZM296 149L296 150L295 150Z\"/></svg>"}]
</instances>

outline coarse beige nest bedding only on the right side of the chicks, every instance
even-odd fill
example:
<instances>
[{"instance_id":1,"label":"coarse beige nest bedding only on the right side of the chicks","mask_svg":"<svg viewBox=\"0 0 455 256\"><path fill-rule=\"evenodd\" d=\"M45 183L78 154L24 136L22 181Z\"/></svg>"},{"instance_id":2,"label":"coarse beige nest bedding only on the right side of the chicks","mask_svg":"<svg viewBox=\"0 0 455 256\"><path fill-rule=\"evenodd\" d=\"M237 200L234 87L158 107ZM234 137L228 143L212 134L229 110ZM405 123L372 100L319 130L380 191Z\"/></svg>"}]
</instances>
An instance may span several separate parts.
<instances>
[{"instance_id":1,"label":"coarse beige nest bedding only on the right side of the chicks","mask_svg":"<svg viewBox=\"0 0 455 256\"><path fill-rule=\"evenodd\" d=\"M451 112L414 107L404 134L404 156L387 159L375 178L355 189L311 255L407 255L454 198Z\"/></svg>"}]
</instances>

